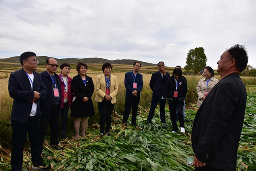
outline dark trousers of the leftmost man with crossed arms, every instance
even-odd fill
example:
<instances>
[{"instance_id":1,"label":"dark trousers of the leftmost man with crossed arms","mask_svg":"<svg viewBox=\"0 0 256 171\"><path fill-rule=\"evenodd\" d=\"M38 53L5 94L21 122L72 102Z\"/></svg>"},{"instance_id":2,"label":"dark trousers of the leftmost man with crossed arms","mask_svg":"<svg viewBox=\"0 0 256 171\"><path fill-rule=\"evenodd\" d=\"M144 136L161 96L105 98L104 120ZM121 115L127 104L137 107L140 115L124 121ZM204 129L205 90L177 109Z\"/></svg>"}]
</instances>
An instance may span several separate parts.
<instances>
[{"instance_id":1,"label":"dark trousers of the leftmost man with crossed arms","mask_svg":"<svg viewBox=\"0 0 256 171\"><path fill-rule=\"evenodd\" d=\"M12 171L21 171L23 163L23 146L27 133L29 134L29 144L32 162L35 166L43 165L41 148L39 143L40 122L37 116L30 116L25 123L12 120Z\"/></svg>"}]
</instances>

